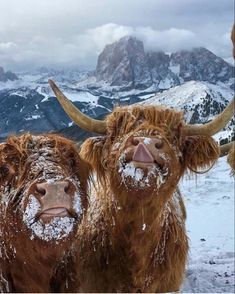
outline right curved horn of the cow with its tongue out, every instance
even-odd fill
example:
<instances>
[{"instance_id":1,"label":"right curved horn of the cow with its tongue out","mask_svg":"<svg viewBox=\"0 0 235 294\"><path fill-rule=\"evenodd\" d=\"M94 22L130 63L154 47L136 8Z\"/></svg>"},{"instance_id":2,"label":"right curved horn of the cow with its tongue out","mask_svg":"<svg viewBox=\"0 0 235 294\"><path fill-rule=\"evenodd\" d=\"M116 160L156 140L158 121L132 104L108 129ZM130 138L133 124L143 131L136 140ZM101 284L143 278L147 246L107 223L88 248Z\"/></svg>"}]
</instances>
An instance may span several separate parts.
<instances>
[{"instance_id":1,"label":"right curved horn of the cow with its tongue out","mask_svg":"<svg viewBox=\"0 0 235 294\"><path fill-rule=\"evenodd\" d=\"M229 105L216 118L204 125L185 125L183 134L186 136L193 135L209 135L212 136L218 133L231 120L234 113L235 96Z\"/></svg>"}]
</instances>

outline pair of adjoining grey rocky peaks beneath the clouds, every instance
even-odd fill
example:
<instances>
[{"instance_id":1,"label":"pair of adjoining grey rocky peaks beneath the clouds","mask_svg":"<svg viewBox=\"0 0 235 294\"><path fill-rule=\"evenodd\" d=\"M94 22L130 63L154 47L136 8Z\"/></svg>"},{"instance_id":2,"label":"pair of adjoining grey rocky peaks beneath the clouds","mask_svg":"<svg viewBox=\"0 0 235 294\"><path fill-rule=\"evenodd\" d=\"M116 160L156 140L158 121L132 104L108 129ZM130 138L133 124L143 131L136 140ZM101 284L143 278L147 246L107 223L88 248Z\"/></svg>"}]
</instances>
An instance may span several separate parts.
<instances>
[{"instance_id":1,"label":"pair of adjoining grey rocky peaks beneath the clouds","mask_svg":"<svg viewBox=\"0 0 235 294\"><path fill-rule=\"evenodd\" d=\"M123 37L107 45L98 57L97 82L128 89L168 89L187 81L223 82L232 87L234 67L205 48L171 55L144 51L143 42Z\"/></svg>"}]
</instances>

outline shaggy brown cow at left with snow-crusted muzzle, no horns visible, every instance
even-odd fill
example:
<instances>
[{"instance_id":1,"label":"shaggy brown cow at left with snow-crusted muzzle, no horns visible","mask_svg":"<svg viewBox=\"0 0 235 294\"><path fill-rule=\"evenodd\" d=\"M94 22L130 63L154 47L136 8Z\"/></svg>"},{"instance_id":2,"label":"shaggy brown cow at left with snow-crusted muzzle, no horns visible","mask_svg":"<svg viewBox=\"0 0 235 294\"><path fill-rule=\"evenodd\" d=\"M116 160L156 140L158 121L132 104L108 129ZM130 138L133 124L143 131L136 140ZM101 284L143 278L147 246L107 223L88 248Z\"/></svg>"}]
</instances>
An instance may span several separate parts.
<instances>
[{"instance_id":1,"label":"shaggy brown cow at left with snow-crusted muzzle, no horns visible","mask_svg":"<svg viewBox=\"0 0 235 294\"><path fill-rule=\"evenodd\" d=\"M73 243L89 170L59 136L0 144L0 292L76 292Z\"/></svg>"}]
</instances>

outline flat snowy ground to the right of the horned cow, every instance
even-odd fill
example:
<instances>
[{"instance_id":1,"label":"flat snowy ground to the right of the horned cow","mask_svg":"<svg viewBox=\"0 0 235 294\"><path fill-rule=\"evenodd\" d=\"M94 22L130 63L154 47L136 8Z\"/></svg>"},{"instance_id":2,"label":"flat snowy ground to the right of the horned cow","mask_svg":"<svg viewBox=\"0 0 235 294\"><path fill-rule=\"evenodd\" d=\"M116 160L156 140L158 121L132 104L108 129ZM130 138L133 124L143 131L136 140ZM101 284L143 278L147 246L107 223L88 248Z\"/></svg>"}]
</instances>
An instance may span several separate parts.
<instances>
[{"instance_id":1,"label":"flat snowy ground to the right of the horned cow","mask_svg":"<svg viewBox=\"0 0 235 294\"><path fill-rule=\"evenodd\" d=\"M234 293L234 178L226 158L206 174L185 176L190 256L182 292Z\"/></svg>"}]
</instances>

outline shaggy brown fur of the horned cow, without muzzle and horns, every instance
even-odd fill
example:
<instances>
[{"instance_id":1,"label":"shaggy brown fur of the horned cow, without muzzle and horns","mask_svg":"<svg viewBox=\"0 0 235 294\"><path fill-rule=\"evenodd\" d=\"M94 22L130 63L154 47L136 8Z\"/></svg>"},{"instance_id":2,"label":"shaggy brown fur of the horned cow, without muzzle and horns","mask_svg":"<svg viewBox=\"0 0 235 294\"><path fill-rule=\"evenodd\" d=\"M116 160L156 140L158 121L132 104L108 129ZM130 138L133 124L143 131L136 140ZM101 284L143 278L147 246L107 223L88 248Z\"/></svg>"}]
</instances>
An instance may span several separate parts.
<instances>
[{"instance_id":1,"label":"shaggy brown fur of the horned cow, without muzzle and horns","mask_svg":"<svg viewBox=\"0 0 235 294\"><path fill-rule=\"evenodd\" d=\"M183 137L183 115L171 109L118 107L106 121L107 136L90 138L81 149L81 156L96 172L97 184L78 231L79 290L177 291L188 254L186 212L177 183L187 168L213 164L219 148L210 137ZM135 191L128 182L120 182L116 172L123 152L119 142L129 136L154 137L156 132L172 146L170 154L179 158L172 167L174 179L160 190Z\"/></svg>"}]
</instances>

